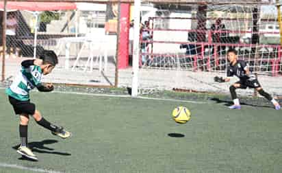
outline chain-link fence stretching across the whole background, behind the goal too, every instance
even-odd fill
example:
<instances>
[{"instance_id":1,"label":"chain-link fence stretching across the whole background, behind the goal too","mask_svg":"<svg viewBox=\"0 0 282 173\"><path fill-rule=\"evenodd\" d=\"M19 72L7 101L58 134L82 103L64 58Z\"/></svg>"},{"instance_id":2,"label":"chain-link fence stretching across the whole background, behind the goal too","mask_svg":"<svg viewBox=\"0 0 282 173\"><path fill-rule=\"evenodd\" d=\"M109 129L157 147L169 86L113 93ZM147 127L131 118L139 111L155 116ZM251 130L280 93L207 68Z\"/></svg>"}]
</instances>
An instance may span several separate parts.
<instances>
[{"instance_id":1,"label":"chain-link fence stretching across the whole background, behind the goal too","mask_svg":"<svg viewBox=\"0 0 282 173\"><path fill-rule=\"evenodd\" d=\"M15 36L6 34L5 78L12 79L21 60L34 58L43 49L53 49L60 64L45 78L48 82L131 87L133 12L138 10L140 91L187 89L227 93L229 84L215 83L213 77L226 76L227 50L235 48L238 57L259 74L262 86L274 95L282 95L276 4L206 2L152 0L142 1L140 8L134 8L133 1L60 1L52 3L64 3L64 8L24 10L10 8L9 3L18 2L8 1L6 27L16 21L16 32ZM71 4L73 8L66 9Z\"/></svg>"}]
</instances>

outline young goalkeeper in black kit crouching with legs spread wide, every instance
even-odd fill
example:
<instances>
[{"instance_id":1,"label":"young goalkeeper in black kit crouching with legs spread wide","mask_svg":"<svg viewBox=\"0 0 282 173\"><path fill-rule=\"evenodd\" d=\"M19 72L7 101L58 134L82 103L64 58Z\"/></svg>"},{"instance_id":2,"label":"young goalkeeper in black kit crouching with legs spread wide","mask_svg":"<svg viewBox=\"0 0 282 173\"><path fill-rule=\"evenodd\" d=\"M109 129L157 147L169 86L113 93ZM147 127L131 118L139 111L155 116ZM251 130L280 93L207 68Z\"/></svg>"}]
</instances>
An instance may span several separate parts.
<instances>
[{"instance_id":1,"label":"young goalkeeper in black kit crouching with legs spread wide","mask_svg":"<svg viewBox=\"0 0 282 173\"><path fill-rule=\"evenodd\" d=\"M235 49L229 49L229 51L227 51L227 58L230 62L230 65L227 68L227 78L219 78L218 76L216 76L214 77L214 81L229 82L231 76L237 76L238 78L240 78L238 82L235 82L235 84L232 84L229 87L231 97L234 102L234 104L232 106L229 106L229 108L241 108L235 90L246 89L247 87L256 89L260 95L263 95L264 97L266 97L267 100L272 102L276 110L279 110L281 108L277 100L274 100L274 98L272 98L269 93L266 93L266 91L262 89L261 85L259 84L259 81L257 80L257 78L255 78L255 75L253 75L253 73L251 73L250 69L248 68L247 63L244 60L238 60L237 51Z\"/></svg>"}]
</instances>

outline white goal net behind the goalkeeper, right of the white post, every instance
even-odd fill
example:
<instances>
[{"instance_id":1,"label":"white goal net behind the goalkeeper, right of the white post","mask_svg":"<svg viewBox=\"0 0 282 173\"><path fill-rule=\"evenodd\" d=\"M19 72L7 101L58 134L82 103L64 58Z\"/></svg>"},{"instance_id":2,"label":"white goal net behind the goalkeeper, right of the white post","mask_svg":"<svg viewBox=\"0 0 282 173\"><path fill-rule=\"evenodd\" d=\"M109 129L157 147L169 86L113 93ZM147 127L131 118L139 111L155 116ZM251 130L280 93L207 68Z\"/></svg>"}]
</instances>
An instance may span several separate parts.
<instances>
[{"instance_id":1,"label":"white goal net behind the goalkeeper, right of the white post","mask_svg":"<svg viewBox=\"0 0 282 173\"><path fill-rule=\"evenodd\" d=\"M281 95L279 5L275 1L142 1L138 89L228 92L228 49L236 49L262 85ZM179 3L180 2L180 3ZM142 6L141 5L141 6ZM234 79L236 80L236 79Z\"/></svg>"}]
</instances>

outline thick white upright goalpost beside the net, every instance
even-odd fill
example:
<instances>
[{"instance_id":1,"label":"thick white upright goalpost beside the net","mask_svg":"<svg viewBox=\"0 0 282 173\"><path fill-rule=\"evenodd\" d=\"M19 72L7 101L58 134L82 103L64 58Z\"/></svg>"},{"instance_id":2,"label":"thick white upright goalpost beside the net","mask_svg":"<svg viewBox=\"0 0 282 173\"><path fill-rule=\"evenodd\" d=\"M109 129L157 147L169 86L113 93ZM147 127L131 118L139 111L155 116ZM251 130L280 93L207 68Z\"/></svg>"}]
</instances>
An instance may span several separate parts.
<instances>
[{"instance_id":1,"label":"thick white upright goalpost beside the net","mask_svg":"<svg viewBox=\"0 0 282 173\"><path fill-rule=\"evenodd\" d=\"M132 57L132 90L131 96L138 96L138 73L140 56L140 8L141 0L134 1L134 35L133 35L133 57Z\"/></svg>"}]
</instances>

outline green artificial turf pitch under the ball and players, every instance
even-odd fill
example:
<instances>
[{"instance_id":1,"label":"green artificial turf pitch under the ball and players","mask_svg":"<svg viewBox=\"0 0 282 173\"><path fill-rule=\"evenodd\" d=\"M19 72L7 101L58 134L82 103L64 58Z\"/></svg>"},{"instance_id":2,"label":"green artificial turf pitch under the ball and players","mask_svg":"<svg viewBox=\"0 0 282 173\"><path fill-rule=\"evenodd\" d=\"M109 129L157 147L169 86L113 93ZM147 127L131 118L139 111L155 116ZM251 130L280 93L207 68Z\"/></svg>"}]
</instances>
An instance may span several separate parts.
<instances>
[{"instance_id":1,"label":"green artificial turf pitch under the ball and players","mask_svg":"<svg viewBox=\"0 0 282 173\"><path fill-rule=\"evenodd\" d=\"M229 111L224 103L64 93L31 94L45 119L73 132L59 139L29 126L29 143L38 162L19 159L18 117L0 90L0 165L21 165L57 172L281 172L282 111L243 106ZM187 124L171 119L172 109L186 106ZM169 134L184 137L170 137ZM27 172L0 167L0 172Z\"/></svg>"}]
</instances>

